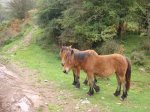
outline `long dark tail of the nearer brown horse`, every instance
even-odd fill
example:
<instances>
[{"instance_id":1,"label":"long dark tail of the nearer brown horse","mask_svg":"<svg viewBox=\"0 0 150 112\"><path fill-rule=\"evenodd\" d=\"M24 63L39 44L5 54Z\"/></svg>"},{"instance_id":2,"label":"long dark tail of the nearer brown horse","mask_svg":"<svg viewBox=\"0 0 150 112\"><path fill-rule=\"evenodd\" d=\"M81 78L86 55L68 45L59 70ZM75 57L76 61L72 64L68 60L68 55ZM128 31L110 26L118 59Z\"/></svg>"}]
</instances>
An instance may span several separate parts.
<instances>
[{"instance_id":1,"label":"long dark tail of the nearer brown horse","mask_svg":"<svg viewBox=\"0 0 150 112\"><path fill-rule=\"evenodd\" d=\"M130 79L131 79L131 64L128 58L126 58L127 63L128 63L128 68L126 71L126 89L127 91L130 89Z\"/></svg>"}]
</instances>

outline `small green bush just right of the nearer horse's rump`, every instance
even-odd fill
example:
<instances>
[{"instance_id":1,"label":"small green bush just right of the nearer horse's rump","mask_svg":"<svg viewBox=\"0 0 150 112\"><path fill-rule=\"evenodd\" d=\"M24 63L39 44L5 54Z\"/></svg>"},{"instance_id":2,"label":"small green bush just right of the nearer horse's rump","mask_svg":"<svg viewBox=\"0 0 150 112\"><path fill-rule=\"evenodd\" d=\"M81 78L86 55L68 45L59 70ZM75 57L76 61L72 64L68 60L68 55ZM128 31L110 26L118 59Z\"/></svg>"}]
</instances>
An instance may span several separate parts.
<instances>
[{"instance_id":1,"label":"small green bush just right of the nearer horse's rump","mask_svg":"<svg viewBox=\"0 0 150 112\"><path fill-rule=\"evenodd\" d=\"M140 52L134 51L131 54L132 63L135 65L142 65L143 66L145 64L144 59L145 59L145 55L144 55L143 51L140 51Z\"/></svg>"}]
</instances>

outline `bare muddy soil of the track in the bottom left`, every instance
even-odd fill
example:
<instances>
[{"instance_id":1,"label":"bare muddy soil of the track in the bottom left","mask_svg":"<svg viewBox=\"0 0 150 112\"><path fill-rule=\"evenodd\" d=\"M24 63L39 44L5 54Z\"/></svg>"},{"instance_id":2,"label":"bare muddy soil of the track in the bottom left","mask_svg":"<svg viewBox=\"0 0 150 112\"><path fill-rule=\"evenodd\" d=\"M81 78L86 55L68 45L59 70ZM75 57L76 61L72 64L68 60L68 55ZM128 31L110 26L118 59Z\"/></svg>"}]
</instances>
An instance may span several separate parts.
<instances>
[{"instance_id":1,"label":"bare muddy soil of the track in the bottom left","mask_svg":"<svg viewBox=\"0 0 150 112\"><path fill-rule=\"evenodd\" d=\"M14 63L0 64L0 112L99 112L88 99L74 99L38 73Z\"/></svg>"}]
</instances>

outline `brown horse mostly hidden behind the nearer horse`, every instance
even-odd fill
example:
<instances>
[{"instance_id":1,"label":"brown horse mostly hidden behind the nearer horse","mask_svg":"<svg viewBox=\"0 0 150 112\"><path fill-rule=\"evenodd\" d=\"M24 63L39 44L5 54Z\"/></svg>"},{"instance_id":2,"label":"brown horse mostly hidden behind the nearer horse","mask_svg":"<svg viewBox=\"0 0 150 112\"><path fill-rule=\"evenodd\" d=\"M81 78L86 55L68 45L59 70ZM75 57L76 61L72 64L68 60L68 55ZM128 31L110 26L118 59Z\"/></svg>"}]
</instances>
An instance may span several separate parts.
<instances>
[{"instance_id":1,"label":"brown horse mostly hidden behind the nearer horse","mask_svg":"<svg viewBox=\"0 0 150 112\"><path fill-rule=\"evenodd\" d=\"M60 50L60 57L61 57L61 65L64 66L65 60L67 58L67 54L68 52L70 52L71 50L74 50L74 52L79 53L79 58L82 60L82 58L84 58L84 56L82 54L87 53L90 55L98 55L94 50L85 50L85 51L79 51L77 49L72 49L71 46L62 46L61 50ZM73 85L75 85L77 88L80 88L80 82L79 82L79 75L80 75L80 66L74 66L73 68L71 68L73 71L73 77L74 77L74 81L73 81ZM65 72L65 71L64 71ZM95 77L95 82L97 82L96 77ZM88 83L88 79L86 78L84 81L84 84L86 85Z\"/></svg>"}]
</instances>

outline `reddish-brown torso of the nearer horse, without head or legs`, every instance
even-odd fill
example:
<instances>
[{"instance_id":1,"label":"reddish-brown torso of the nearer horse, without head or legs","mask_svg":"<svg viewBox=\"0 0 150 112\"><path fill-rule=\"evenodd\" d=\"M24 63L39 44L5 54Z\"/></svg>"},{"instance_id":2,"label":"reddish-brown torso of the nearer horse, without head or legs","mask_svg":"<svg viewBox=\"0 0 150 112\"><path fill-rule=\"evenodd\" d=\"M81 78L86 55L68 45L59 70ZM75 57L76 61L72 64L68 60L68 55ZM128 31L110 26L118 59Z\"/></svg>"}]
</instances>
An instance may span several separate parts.
<instances>
[{"instance_id":1,"label":"reddish-brown torso of the nearer horse, without head or legs","mask_svg":"<svg viewBox=\"0 0 150 112\"><path fill-rule=\"evenodd\" d=\"M126 58L120 54L91 56L86 60L85 69L102 76L110 75L115 72L126 71L127 62Z\"/></svg>"}]
</instances>

